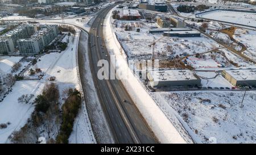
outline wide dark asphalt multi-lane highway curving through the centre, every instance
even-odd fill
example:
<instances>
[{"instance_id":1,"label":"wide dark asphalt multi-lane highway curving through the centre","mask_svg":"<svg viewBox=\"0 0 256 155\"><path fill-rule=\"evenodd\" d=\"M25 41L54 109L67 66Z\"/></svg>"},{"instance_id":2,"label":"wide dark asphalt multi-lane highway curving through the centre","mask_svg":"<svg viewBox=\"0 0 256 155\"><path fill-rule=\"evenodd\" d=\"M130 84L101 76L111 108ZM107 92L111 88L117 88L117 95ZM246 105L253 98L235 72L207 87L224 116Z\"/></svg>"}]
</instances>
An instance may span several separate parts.
<instances>
[{"instance_id":1,"label":"wide dark asphalt multi-lane highway curving through the centre","mask_svg":"<svg viewBox=\"0 0 256 155\"><path fill-rule=\"evenodd\" d=\"M100 69L97 66L98 61L104 58L109 60L110 57L105 46L101 23L104 23L106 14L114 6L111 5L100 10L90 28L89 58L94 85L115 143L158 143L122 82L118 79L100 80L97 78L97 72Z\"/></svg>"}]
</instances>

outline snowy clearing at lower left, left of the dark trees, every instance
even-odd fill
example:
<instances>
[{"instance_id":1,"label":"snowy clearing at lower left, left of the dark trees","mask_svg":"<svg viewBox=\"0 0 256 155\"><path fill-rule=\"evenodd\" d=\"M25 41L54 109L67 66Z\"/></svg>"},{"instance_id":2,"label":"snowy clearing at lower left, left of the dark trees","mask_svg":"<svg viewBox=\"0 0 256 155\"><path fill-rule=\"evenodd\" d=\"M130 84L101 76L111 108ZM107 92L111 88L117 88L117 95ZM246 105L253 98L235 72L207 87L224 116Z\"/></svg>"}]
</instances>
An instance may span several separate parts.
<instances>
[{"instance_id":1,"label":"snowy clearing at lower left, left of the dark trees","mask_svg":"<svg viewBox=\"0 0 256 155\"><path fill-rule=\"evenodd\" d=\"M39 95L43 86L41 81L18 81L13 86L13 91L0 102L0 124L11 123L7 128L0 128L0 143L6 143L12 132L23 127L34 111L32 104L19 103L18 98L23 94Z\"/></svg>"}]
</instances>

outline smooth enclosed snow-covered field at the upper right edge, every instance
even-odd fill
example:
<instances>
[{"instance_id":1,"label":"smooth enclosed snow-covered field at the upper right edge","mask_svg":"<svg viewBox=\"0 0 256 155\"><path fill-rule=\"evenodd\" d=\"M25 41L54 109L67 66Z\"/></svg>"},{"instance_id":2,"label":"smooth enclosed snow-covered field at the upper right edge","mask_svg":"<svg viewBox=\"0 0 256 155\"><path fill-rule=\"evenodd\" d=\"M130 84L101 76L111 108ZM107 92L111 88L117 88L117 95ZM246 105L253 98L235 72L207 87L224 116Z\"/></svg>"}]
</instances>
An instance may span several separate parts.
<instances>
[{"instance_id":1,"label":"smooth enclosed snow-covered field at the upper right edge","mask_svg":"<svg viewBox=\"0 0 256 155\"><path fill-rule=\"evenodd\" d=\"M255 27L256 25L256 13L251 12L213 10L196 15L196 17L220 20L223 22L230 22L235 24L243 24L245 26L252 27Z\"/></svg>"}]
</instances>

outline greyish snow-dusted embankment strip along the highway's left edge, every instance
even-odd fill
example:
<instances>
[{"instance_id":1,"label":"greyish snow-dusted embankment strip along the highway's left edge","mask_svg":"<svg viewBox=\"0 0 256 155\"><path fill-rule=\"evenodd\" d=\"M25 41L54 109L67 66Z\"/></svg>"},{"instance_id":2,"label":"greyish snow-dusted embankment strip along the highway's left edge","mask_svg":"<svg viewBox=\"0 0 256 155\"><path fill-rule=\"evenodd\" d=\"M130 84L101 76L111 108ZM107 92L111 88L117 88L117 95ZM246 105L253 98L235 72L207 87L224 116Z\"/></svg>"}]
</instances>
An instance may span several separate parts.
<instances>
[{"instance_id":1,"label":"greyish snow-dusted embankment strip along the highway's left edge","mask_svg":"<svg viewBox=\"0 0 256 155\"><path fill-rule=\"evenodd\" d=\"M81 32L79 40L79 67L80 78L85 92L86 109L90 116L93 132L98 143L114 143L112 133L108 126L104 112L98 99L96 87L94 86L92 72L90 72L90 60L88 51L88 33ZM70 140L70 139L69 139Z\"/></svg>"}]
</instances>

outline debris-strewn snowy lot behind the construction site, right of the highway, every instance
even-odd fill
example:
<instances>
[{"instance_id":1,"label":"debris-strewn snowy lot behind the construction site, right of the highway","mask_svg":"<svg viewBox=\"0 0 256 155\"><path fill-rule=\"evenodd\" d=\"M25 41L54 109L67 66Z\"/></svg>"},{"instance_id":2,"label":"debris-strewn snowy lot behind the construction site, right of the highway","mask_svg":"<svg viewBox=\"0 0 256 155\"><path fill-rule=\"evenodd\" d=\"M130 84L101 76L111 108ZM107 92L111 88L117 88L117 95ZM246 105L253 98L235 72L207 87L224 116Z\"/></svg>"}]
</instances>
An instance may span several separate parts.
<instances>
[{"instance_id":1,"label":"debris-strewn snowy lot behind the construction site, right of the highway","mask_svg":"<svg viewBox=\"0 0 256 155\"><path fill-rule=\"evenodd\" d=\"M133 30L125 31L126 25L133 26ZM115 33L128 57L151 55L152 47L148 45L152 44L154 39L159 39L155 44L155 55L192 55L218 47L216 42L204 35L201 37L163 37L162 33L148 33L150 27L156 24L146 24L139 20L130 22L118 20L117 26ZM140 28L141 32L136 32L137 28Z\"/></svg>"}]
</instances>

